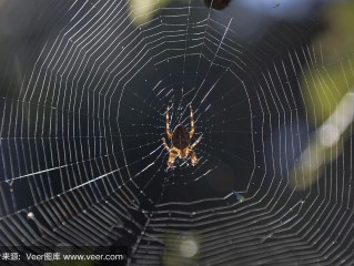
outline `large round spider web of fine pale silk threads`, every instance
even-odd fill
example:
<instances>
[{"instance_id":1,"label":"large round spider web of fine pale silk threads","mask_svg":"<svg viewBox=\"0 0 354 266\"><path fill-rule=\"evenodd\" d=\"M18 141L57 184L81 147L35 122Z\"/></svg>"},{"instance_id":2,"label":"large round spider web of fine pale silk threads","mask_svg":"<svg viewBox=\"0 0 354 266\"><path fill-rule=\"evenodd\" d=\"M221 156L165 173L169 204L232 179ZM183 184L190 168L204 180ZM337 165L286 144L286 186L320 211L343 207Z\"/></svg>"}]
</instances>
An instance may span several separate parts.
<instances>
[{"instance_id":1,"label":"large round spider web of fine pale silk threads","mask_svg":"<svg viewBox=\"0 0 354 266\"><path fill-rule=\"evenodd\" d=\"M352 125L318 182L291 185L314 132L300 75L324 70L312 79L332 86L326 69L353 58L324 63L315 21L245 38L199 1L156 2L141 27L127 1L33 9L21 25L36 31L1 55L1 245L120 244L131 265L353 264ZM165 109L190 130L190 104L200 162L168 170Z\"/></svg>"}]
</instances>

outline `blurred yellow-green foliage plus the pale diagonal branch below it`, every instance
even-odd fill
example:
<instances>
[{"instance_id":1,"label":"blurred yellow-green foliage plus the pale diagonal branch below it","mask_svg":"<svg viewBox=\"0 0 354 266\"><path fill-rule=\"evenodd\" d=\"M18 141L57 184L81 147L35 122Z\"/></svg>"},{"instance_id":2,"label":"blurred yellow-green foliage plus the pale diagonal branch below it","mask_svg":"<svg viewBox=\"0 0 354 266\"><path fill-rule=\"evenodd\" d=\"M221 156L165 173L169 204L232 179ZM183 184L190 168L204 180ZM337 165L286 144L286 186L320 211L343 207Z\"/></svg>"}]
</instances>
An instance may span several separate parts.
<instances>
[{"instance_id":1,"label":"blurred yellow-green foliage plus the pale diagonal branch below it","mask_svg":"<svg viewBox=\"0 0 354 266\"><path fill-rule=\"evenodd\" d=\"M305 190L340 156L353 123L354 1L332 2L324 9L325 29L307 52L312 59L301 76L301 90L310 122L316 126L301 160L290 172L290 186ZM351 92L351 93L350 93Z\"/></svg>"}]
</instances>

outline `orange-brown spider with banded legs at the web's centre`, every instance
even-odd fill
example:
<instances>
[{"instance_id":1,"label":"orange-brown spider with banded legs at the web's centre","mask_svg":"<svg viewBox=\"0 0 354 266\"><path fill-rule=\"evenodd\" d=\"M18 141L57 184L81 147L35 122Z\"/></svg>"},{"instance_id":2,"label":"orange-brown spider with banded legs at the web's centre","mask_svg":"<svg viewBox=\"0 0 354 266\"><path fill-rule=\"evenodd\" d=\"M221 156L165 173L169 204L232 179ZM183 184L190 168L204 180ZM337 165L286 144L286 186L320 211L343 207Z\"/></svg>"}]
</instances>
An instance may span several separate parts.
<instances>
[{"instance_id":1,"label":"orange-brown spider with banded legs at the web's centre","mask_svg":"<svg viewBox=\"0 0 354 266\"><path fill-rule=\"evenodd\" d=\"M193 149L198 145L198 143L201 141L202 136L200 136L196 142L194 142L192 145L191 140L194 135L194 120L193 120L193 110L191 109L191 132L188 132L185 127L182 124L179 124L173 133L170 132L170 116L169 116L169 106L166 108L166 134L168 137L172 141L172 146L170 147L166 144L166 141L164 137L162 137L163 146L169 151L169 160L168 165L169 168L173 167L175 157L180 158L191 158L192 165L195 166L199 162L196 158L195 152Z\"/></svg>"}]
</instances>

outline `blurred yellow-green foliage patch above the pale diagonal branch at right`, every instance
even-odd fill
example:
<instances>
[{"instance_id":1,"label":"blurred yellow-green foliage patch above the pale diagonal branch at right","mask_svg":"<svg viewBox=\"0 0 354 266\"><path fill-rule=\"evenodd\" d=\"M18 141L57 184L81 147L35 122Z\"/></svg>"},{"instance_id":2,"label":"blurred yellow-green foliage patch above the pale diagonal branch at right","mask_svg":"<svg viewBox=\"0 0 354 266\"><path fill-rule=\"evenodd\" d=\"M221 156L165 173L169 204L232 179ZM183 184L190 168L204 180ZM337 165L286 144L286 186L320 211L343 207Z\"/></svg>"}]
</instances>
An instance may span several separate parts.
<instances>
[{"instance_id":1,"label":"blurred yellow-green foliage patch above the pale diagonal branch at right","mask_svg":"<svg viewBox=\"0 0 354 266\"><path fill-rule=\"evenodd\" d=\"M302 76L305 108L312 123L322 124L354 84L354 1L326 6L325 29L312 41L314 65Z\"/></svg>"}]
</instances>

